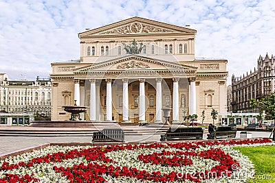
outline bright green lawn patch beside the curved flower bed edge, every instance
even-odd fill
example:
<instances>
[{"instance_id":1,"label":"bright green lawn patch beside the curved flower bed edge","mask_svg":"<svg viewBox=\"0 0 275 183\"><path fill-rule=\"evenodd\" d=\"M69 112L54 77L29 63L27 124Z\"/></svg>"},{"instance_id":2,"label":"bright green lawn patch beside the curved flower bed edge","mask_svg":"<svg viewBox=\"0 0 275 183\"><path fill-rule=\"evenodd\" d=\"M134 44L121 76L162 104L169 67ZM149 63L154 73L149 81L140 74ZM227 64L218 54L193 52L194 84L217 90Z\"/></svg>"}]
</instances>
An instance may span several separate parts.
<instances>
[{"instance_id":1,"label":"bright green lawn patch beside the curved flower bed edge","mask_svg":"<svg viewBox=\"0 0 275 183\"><path fill-rule=\"evenodd\" d=\"M252 182L275 182L275 146L234 147L253 162L256 175Z\"/></svg>"}]
</instances>

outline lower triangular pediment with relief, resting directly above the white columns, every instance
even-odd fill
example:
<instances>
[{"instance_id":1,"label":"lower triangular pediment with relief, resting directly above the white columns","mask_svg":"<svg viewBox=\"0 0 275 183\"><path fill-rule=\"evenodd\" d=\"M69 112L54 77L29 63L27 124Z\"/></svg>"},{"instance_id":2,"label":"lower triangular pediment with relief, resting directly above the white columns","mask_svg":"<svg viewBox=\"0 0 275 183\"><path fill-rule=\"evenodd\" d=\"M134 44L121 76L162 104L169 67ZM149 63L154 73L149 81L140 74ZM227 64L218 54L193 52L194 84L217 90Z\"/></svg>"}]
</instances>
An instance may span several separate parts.
<instances>
[{"instance_id":1,"label":"lower triangular pediment with relief, resting directly above the white columns","mask_svg":"<svg viewBox=\"0 0 275 183\"><path fill-rule=\"evenodd\" d=\"M196 71L197 67L180 64L178 62L170 62L166 60L158 60L140 55L129 55L113 60L91 64L89 66L75 69L74 72L89 72L89 71L142 71L142 70L181 70L181 71Z\"/></svg>"}]
</instances>

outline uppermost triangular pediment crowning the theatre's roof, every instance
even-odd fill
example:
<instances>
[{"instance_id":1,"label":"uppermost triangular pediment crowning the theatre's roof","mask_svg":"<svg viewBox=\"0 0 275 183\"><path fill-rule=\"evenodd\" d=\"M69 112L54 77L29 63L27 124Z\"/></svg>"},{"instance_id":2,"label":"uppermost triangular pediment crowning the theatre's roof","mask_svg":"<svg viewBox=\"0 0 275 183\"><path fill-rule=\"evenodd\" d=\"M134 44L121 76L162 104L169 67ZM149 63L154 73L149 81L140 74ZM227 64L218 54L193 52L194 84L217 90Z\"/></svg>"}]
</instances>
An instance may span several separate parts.
<instances>
[{"instance_id":1,"label":"uppermost triangular pediment crowning the theatre's roof","mask_svg":"<svg viewBox=\"0 0 275 183\"><path fill-rule=\"evenodd\" d=\"M86 32L78 34L81 38L83 36L108 35L108 34L154 34L154 33L192 33L195 34L195 29L171 25L144 19L140 17L133 17L124 21L111 23L103 27L91 29Z\"/></svg>"}]
</instances>

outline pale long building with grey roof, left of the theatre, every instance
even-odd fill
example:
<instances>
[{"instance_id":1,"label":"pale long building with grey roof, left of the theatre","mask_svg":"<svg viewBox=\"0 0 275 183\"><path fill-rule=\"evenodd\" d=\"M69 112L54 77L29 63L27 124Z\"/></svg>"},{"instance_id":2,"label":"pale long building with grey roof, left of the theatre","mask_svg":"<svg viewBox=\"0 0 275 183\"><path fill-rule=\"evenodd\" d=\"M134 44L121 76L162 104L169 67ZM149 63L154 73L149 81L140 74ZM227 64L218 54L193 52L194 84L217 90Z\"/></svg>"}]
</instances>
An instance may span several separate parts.
<instances>
[{"instance_id":1,"label":"pale long building with grey roof, left of the theatre","mask_svg":"<svg viewBox=\"0 0 275 183\"><path fill-rule=\"evenodd\" d=\"M0 74L0 111L14 114L51 116L52 84L50 78L35 81L9 80Z\"/></svg>"}]
</instances>

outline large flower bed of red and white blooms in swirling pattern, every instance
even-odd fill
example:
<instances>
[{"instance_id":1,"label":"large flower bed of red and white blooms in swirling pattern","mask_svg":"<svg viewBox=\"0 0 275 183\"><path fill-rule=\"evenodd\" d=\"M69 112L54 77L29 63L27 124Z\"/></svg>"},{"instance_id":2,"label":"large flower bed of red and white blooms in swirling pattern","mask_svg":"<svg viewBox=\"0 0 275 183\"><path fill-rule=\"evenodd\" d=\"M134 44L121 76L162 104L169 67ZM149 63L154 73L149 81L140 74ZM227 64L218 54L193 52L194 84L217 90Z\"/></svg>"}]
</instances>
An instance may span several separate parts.
<instances>
[{"instance_id":1,"label":"large flower bed of red and white blooms in swirling pattern","mask_svg":"<svg viewBox=\"0 0 275 183\"><path fill-rule=\"evenodd\" d=\"M50 146L0 162L2 182L245 182L250 160L234 145L268 139L102 147Z\"/></svg>"}]
</instances>

